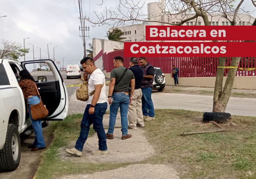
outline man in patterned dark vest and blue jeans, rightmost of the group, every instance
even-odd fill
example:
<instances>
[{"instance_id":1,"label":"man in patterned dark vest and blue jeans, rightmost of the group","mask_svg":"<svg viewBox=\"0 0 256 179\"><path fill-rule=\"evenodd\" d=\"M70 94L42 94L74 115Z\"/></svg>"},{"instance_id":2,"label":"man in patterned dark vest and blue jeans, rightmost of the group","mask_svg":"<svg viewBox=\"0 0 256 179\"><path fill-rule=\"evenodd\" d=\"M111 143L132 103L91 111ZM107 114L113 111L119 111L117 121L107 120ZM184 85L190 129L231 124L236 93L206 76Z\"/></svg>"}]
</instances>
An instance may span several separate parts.
<instances>
[{"instance_id":1,"label":"man in patterned dark vest and blue jeans, rightmost of the group","mask_svg":"<svg viewBox=\"0 0 256 179\"><path fill-rule=\"evenodd\" d=\"M155 119L154 104L151 99L155 69L147 62L145 57L140 57L139 63L143 70L142 113L144 120L150 121L152 119Z\"/></svg>"}]
</instances>

